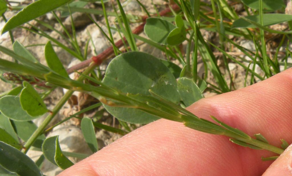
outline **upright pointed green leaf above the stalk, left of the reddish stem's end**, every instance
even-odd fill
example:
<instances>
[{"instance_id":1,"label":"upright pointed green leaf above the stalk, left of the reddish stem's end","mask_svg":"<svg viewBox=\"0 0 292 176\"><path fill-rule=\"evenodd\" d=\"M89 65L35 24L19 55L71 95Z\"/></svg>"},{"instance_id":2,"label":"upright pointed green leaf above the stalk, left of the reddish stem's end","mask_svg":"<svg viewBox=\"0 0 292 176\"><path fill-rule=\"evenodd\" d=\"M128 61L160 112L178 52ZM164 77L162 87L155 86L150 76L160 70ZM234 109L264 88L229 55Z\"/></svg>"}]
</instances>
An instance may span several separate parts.
<instances>
[{"instance_id":1,"label":"upright pointed green leaf above the stalk, left of the reddish stem's end","mask_svg":"<svg viewBox=\"0 0 292 176\"><path fill-rule=\"evenodd\" d=\"M61 63L59 57L57 56L55 50L53 49L51 41L48 41L48 43L45 46L45 58L48 66L53 71L55 71L56 73L60 74L63 77L69 78L63 64Z\"/></svg>"}]
</instances>

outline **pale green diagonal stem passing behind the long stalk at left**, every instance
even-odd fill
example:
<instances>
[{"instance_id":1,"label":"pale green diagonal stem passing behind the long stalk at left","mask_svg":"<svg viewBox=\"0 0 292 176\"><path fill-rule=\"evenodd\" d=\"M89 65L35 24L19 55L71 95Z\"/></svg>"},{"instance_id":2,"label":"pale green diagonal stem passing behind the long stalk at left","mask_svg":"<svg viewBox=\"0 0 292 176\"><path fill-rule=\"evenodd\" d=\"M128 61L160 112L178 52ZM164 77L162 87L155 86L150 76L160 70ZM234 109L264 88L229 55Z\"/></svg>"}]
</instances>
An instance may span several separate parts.
<instances>
[{"instance_id":1,"label":"pale green diagonal stem passing behind the long stalk at left","mask_svg":"<svg viewBox=\"0 0 292 176\"><path fill-rule=\"evenodd\" d=\"M96 66L95 64L89 65L89 67L83 72L83 74L85 74L85 75L89 74L95 68L95 66ZM84 77L81 75L77 79L77 81L82 81L83 79L84 79ZM46 117L44 122L36 129L36 131L34 131L32 136L30 136L30 138L27 140L27 142L24 145L24 149L22 150L23 153L26 154L28 152L29 148L32 146L32 144L34 143L36 138L43 133L45 128L48 126L48 124L51 122L51 120L55 117L55 115L60 111L60 109L67 102L67 100L71 97L73 92L74 92L73 90L68 90L65 93L65 95L60 99L58 104L51 111L51 113Z\"/></svg>"}]
</instances>

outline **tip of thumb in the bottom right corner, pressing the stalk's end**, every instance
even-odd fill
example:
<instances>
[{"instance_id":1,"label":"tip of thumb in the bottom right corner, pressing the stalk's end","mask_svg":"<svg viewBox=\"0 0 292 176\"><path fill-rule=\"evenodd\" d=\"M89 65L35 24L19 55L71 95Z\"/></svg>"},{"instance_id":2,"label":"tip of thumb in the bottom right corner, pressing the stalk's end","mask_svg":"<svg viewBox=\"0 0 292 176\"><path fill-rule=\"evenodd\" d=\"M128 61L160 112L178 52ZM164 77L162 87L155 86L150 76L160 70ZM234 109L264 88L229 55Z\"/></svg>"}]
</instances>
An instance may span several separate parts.
<instances>
[{"instance_id":1,"label":"tip of thumb in the bottom right corner, pressing the stalk's end","mask_svg":"<svg viewBox=\"0 0 292 176\"><path fill-rule=\"evenodd\" d=\"M292 144L265 171L263 176L292 175Z\"/></svg>"}]
</instances>

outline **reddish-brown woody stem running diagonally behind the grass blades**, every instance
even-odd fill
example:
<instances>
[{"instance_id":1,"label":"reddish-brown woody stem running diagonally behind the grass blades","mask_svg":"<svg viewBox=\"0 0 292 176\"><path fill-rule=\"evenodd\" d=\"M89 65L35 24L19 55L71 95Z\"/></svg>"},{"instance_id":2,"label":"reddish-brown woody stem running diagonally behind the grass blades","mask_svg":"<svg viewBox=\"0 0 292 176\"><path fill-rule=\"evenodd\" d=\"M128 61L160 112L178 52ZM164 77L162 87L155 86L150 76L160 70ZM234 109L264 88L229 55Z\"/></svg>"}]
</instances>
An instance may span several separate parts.
<instances>
[{"instance_id":1,"label":"reddish-brown woody stem running diagonally behind the grass blades","mask_svg":"<svg viewBox=\"0 0 292 176\"><path fill-rule=\"evenodd\" d=\"M174 10L174 11L178 11L180 10L179 6L178 5L172 5L171 8ZM168 13L171 12L171 9L170 8L166 8L165 10L162 10L159 15L160 16L166 16ZM140 34L143 29L144 29L144 26L146 24L146 19L148 17L147 16L144 16L142 17L142 20L144 21L142 24L140 24L138 27L136 27L132 33L133 34ZM127 40L126 38L124 37L123 40L127 43ZM115 43L115 45L117 46L117 48L120 48L124 45L123 41L122 40L119 40ZM67 72L68 74L74 72L75 70L80 70L80 69L83 69L85 67L88 67L88 65L90 65L92 62L94 62L96 65L100 65L102 63L102 61L104 61L105 59L107 59L109 56L111 56L112 54L114 53L114 48L112 46L108 47L105 51L103 51L102 53L98 54L97 56L92 56L91 59L88 59L86 61L83 61L77 65L74 65L73 67L70 67L67 69Z\"/></svg>"}]
</instances>

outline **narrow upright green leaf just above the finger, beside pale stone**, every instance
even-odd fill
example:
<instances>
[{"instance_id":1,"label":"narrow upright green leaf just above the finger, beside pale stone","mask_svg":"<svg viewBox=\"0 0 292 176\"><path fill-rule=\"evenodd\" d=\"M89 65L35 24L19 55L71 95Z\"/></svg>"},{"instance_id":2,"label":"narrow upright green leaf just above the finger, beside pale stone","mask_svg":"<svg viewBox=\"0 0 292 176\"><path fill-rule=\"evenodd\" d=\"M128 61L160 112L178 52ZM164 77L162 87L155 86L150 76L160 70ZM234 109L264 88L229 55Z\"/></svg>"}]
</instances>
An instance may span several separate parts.
<instances>
[{"instance_id":1,"label":"narrow upright green leaf just above the finger, beside pale stone","mask_svg":"<svg viewBox=\"0 0 292 176\"><path fill-rule=\"evenodd\" d=\"M82 118L81 130L86 143L90 150L95 153L98 151L98 144L95 136L92 120L90 118Z\"/></svg>"}]
</instances>

